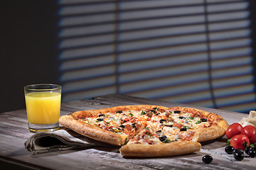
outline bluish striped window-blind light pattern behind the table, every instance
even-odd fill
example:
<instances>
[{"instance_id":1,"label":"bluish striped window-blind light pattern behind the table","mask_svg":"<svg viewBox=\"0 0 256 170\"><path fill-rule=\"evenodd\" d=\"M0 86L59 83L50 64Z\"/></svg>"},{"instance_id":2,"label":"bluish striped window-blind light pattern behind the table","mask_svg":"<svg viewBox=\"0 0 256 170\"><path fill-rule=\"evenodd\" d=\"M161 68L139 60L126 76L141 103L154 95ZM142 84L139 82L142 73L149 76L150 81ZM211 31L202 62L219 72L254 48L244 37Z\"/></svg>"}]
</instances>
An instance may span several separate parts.
<instances>
[{"instance_id":1,"label":"bluish striped window-blind light pattern behind the table","mask_svg":"<svg viewBox=\"0 0 256 170\"><path fill-rule=\"evenodd\" d=\"M248 1L62 0L63 101L128 94L255 108Z\"/></svg>"}]
</instances>

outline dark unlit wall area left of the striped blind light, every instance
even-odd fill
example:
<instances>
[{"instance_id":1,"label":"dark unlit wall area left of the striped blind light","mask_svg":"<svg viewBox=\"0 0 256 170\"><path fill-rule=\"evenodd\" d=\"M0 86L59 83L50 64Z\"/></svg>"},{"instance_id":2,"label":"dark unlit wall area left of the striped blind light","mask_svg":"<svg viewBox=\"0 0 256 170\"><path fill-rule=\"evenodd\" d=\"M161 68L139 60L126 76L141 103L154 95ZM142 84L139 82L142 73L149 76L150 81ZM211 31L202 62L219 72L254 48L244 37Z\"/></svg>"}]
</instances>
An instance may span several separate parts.
<instances>
[{"instance_id":1,"label":"dark unlit wall area left of the striped blind light","mask_svg":"<svg viewBox=\"0 0 256 170\"><path fill-rule=\"evenodd\" d=\"M25 108L23 86L58 84L55 1L1 1L0 113Z\"/></svg>"}]
</instances>

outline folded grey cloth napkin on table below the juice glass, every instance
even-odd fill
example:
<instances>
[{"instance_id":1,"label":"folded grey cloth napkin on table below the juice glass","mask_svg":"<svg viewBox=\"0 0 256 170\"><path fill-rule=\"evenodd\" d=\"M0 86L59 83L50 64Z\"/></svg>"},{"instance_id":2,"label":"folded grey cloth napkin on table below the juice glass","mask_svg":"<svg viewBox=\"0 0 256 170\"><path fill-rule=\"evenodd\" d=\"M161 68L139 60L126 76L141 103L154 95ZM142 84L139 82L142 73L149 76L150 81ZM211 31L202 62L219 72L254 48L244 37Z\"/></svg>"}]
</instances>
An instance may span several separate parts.
<instances>
[{"instance_id":1,"label":"folded grey cloth napkin on table below the juice glass","mask_svg":"<svg viewBox=\"0 0 256 170\"><path fill-rule=\"evenodd\" d=\"M36 132L25 142L25 148L33 154L87 147L110 147L110 145L90 140L69 129Z\"/></svg>"}]
</instances>

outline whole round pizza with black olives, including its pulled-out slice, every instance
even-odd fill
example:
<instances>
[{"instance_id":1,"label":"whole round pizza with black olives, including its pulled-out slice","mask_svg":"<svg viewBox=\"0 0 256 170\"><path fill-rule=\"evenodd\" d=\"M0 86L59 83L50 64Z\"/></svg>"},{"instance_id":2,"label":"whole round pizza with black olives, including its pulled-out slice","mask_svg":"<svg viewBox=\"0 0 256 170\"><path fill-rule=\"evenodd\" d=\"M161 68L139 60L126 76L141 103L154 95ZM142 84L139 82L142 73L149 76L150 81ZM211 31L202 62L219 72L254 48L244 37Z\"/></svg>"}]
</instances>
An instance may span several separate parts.
<instances>
[{"instance_id":1,"label":"whole round pizza with black olives, including its pulled-out slice","mask_svg":"<svg viewBox=\"0 0 256 170\"><path fill-rule=\"evenodd\" d=\"M60 124L93 140L121 146L124 157L171 157L191 154L201 143L225 135L220 115L196 108L153 105L116 106L77 111Z\"/></svg>"}]
</instances>

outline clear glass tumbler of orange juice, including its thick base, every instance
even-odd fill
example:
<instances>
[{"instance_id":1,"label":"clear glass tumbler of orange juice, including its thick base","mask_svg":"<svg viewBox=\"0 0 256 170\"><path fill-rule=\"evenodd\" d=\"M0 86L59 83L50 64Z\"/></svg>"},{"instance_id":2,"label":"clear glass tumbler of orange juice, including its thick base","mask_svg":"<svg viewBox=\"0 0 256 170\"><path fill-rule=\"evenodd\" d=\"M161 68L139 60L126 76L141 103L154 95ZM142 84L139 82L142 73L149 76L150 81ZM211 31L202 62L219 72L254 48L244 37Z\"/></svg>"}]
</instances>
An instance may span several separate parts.
<instances>
[{"instance_id":1,"label":"clear glass tumbler of orange juice, including its thick base","mask_svg":"<svg viewBox=\"0 0 256 170\"><path fill-rule=\"evenodd\" d=\"M61 86L33 84L24 87L28 129L31 132L58 130Z\"/></svg>"}]
</instances>

